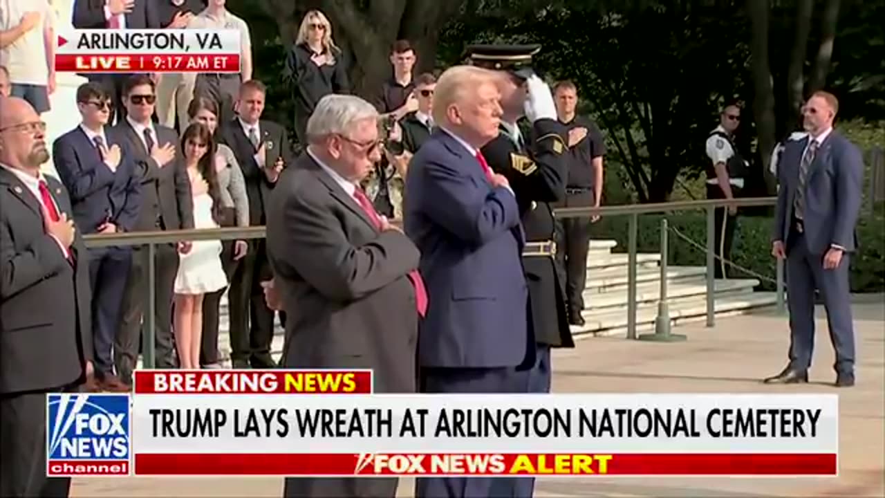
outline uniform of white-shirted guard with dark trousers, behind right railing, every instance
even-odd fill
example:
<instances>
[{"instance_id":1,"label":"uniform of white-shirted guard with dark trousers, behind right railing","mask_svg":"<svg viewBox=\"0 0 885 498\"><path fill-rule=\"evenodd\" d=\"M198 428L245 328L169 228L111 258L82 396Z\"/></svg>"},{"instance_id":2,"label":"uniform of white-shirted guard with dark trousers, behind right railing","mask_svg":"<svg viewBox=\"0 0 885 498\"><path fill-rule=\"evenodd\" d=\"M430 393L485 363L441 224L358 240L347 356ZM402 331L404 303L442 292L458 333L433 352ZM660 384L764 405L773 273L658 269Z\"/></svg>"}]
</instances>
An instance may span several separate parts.
<instances>
[{"instance_id":1,"label":"uniform of white-shirted guard with dark trousers, behind right railing","mask_svg":"<svg viewBox=\"0 0 885 498\"><path fill-rule=\"evenodd\" d=\"M707 137L706 152L710 159L706 168L707 198L725 198L725 193L722 192L719 185L719 178L716 176L716 165L720 162L725 163L732 195L735 198L741 197L744 179L748 173L747 162L743 160L740 152L737 152L732 136L721 125L713 129L710 136ZM716 253L714 273L716 278L727 278L726 261L731 261L731 245L735 237L737 216L736 214L728 214L727 207L717 207L714 215L713 247Z\"/></svg>"}]
</instances>

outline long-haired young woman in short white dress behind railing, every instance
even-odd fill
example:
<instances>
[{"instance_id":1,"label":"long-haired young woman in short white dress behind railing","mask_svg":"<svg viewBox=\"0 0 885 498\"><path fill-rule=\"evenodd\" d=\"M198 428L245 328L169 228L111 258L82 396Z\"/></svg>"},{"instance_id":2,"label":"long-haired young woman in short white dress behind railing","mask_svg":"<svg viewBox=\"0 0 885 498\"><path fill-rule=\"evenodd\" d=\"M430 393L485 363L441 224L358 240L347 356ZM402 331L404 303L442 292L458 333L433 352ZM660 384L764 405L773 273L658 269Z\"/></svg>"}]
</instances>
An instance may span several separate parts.
<instances>
[{"instance_id":1,"label":"long-haired young woman in short white dress behind railing","mask_svg":"<svg viewBox=\"0 0 885 498\"><path fill-rule=\"evenodd\" d=\"M193 123L181 136L181 150L194 198L194 228L219 227L221 193L215 168L215 142L209 128ZM175 276L175 346L182 369L200 368L200 338L203 335L203 296L227 285L221 267L221 241L201 240L189 253L181 254Z\"/></svg>"}]
</instances>

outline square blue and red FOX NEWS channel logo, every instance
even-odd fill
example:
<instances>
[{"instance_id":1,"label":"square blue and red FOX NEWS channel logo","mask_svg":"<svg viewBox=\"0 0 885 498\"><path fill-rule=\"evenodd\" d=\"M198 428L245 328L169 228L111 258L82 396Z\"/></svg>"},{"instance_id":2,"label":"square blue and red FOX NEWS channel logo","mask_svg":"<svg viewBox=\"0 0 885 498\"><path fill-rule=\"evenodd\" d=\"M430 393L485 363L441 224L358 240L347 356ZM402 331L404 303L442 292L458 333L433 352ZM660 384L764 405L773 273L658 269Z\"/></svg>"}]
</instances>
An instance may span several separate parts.
<instances>
[{"instance_id":1,"label":"square blue and red FOX NEWS channel logo","mask_svg":"<svg viewBox=\"0 0 885 498\"><path fill-rule=\"evenodd\" d=\"M46 403L47 475L129 475L127 394L48 394Z\"/></svg>"}]
</instances>

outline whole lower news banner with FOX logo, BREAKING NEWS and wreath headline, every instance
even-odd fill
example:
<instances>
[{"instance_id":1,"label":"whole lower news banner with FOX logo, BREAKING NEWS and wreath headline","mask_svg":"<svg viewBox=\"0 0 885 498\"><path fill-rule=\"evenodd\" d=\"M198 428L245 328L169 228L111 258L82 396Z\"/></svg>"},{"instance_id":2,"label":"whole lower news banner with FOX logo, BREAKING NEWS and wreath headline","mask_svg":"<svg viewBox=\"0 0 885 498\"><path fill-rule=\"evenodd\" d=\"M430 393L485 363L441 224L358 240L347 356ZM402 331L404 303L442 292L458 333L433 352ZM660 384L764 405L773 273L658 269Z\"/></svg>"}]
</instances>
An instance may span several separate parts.
<instances>
[{"instance_id":1,"label":"whole lower news banner with FOX logo, BREAKING NEWS and wreath headline","mask_svg":"<svg viewBox=\"0 0 885 498\"><path fill-rule=\"evenodd\" d=\"M50 394L50 475L837 475L835 394L379 394L369 370L140 370Z\"/></svg>"}]
</instances>

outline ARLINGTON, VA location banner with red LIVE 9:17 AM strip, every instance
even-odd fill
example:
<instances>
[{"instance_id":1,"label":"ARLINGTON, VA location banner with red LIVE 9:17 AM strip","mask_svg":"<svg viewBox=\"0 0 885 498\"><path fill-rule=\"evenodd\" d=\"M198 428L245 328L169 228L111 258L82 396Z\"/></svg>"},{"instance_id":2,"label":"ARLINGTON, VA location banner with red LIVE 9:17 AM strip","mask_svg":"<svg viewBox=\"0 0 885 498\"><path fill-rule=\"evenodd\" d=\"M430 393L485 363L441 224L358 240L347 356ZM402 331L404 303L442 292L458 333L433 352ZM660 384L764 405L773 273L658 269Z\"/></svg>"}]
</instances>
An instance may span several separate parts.
<instances>
[{"instance_id":1,"label":"ARLINGTON, VA location banner with red LIVE 9:17 AM strip","mask_svg":"<svg viewBox=\"0 0 885 498\"><path fill-rule=\"evenodd\" d=\"M241 43L236 29L77 29L58 34L56 71L236 74Z\"/></svg>"}]
</instances>

